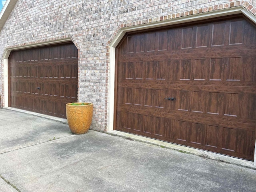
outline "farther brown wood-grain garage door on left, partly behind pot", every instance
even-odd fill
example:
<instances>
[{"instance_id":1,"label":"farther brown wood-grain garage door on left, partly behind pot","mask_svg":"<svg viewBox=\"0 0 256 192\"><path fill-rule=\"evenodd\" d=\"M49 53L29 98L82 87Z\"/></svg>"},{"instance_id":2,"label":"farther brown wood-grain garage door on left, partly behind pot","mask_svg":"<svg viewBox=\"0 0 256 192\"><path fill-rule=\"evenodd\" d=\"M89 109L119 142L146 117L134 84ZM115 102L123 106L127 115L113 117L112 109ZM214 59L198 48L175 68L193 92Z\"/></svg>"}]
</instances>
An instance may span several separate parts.
<instances>
[{"instance_id":1,"label":"farther brown wood-grain garage door on left, partly behind pot","mask_svg":"<svg viewBox=\"0 0 256 192\"><path fill-rule=\"evenodd\" d=\"M9 106L66 118L77 102L77 48L73 43L11 52Z\"/></svg>"}]
</instances>

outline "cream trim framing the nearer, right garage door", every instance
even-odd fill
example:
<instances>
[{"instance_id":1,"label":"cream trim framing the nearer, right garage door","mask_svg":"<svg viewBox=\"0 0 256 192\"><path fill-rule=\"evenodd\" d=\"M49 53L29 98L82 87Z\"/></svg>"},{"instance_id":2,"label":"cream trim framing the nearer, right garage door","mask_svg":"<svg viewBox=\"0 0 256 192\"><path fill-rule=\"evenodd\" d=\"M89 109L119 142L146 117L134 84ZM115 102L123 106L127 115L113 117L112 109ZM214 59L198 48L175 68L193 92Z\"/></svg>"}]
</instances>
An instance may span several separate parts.
<instances>
[{"instance_id":1,"label":"cream trim framing the nearer, right garage door","mask_svg":"<svg viewBox=\"0 0 256 192\"><path fill-rule=\"evenodd\" d=\"M118 45L118 43L122 40L126 32L162 27L162 26L171 26L174 24L181 24L185 22L199 21L199 20L205 20L209 18L217 18L221 16L228 16L228 15L241 14L241 13L256 24L256 17L252 13L250 13L248 10L246 10L244 7L238 6L234 8L227 8L222 10L195 14L191 16L183 16L183 17L174 18L170 20L164 20L159 22L152 22L147 24L121 28L116 34L116 36L114 37L114 39L112 40L112 42L110 43L110 92L109 92L110 105L109 105L109 114L108 114L108 117L109 117L108 131L111 131L114 129L114 96L115 96L115 93L114 93L115 72L114 71L115 71L115 55L116 55L115 48ZM255 144L255 150L254 150L254 166L256 166L256 144Z\"/></svg>"}]
</instances>

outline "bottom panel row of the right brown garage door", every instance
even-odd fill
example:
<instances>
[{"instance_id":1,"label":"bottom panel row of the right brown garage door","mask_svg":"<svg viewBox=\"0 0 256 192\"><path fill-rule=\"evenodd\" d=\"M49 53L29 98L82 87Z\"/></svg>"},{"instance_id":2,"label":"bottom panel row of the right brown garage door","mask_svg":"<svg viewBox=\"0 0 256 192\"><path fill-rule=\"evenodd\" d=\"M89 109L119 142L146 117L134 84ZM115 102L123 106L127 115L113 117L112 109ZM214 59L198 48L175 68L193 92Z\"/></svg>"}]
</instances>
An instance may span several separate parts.
<instances>
[{"instance_id":1,"label":"bottom panel row of the right brown garage door","mask_svg":"<svg viewBox=\"0 0 256 192\"><path fill-rule=\"evenodd\" d=\"M122 122L127 122L129 118L132 118L132 113L121 112L123 114ZM118 112L120 114L120 112ZM128 114L128 115L127 115ZM146 114L146 112L145 112ZM124 118L128 117L126 120ZM140 120L142 115L136 115L136 117L140 116ZM142 134L144 136L163 139L175 142L178 144L183 144L187 146L192 146L196 148L202 148L204 150L211 150L218 153L225 153L231 156L236 156L240 154L241 158L248 158L252 155L249 152L253 152L254 146L250 146L250 150L248 151L249 155L242 154L245 148L248 148L248 143L244 141L244 138L249 139L250 142L255 142L253 136L255 135L254 131L246 131L242 129L234 129L234 128L223 128L222 126L212 125L210 123L195 123L184 120L172 119L172 118L164 118L165 128L164 130L160 130L160 132L164 132L164 135L157 134L158 132L154 131L152 134L152 124L150 122L156 122L156 125L162 123L162 118L156 118L155 120L152 116L143 115L144 117L144 126L143 133L140 133L140 130L136 130L136 124L134 124L134 129L132 127L132 122L127 122L126 125L123 126L118 124L118 128L123 131L129 130L129 132L135 134ZM119 116L118 116L119 119ZM148 121L147 121L148 120ZM200 121L200 120L199 120ZM153 126L154 126L153 125ZM226 129L226 130L225 130ZM187 134L184 134L185 133ZM217 137L216 137L217 135ZM212 139L214 137L214 139ZM243 149L240 149L243 148ZM243 152L240 152L240 151ZM248 150L248 149L247 149Z\"/></svg>"}]
</instances>

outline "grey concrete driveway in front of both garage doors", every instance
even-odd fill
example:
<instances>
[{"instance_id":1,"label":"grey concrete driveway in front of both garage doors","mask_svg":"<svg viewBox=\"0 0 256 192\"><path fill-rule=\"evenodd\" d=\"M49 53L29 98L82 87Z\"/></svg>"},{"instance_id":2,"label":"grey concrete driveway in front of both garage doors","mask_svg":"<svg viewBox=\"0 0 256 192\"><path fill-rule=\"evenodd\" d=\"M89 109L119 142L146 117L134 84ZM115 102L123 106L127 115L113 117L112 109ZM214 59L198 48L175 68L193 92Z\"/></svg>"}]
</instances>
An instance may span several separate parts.
<instances>
[{"instance_id":1,"label":"grey concrete driveway in front of both garage doors","mask_svg":"<svg viewBox=\"0 0 256 192\"><path fill-rule=\"evenodd\" d=\"M0 109L1 192L255 192L256 170Z\"/></svg>"}]
</instances>

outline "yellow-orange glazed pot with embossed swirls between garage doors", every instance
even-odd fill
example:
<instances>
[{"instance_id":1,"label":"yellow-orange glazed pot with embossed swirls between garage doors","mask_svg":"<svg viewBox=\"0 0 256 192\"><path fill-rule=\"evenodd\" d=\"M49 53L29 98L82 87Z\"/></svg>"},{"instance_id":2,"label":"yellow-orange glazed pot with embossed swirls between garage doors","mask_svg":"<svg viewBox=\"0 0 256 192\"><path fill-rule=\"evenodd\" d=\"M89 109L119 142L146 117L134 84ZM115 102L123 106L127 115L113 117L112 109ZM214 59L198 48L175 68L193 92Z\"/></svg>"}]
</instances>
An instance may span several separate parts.
<instances>
[{"instance_id":1,"label":"yellow-orange glazed pot with embossed swirls between garage doors","mask_svg":"<svg viewBox=\"0 0 256 192\"><path fill-rule=\"evenodd\" d=\"M92 124L92 103L67 103L66 115L68 126L73 134L88 132Z\"/></svg>"}]
</instances>

